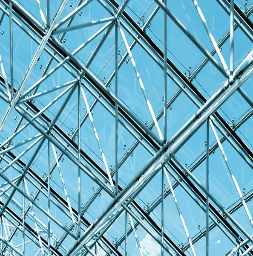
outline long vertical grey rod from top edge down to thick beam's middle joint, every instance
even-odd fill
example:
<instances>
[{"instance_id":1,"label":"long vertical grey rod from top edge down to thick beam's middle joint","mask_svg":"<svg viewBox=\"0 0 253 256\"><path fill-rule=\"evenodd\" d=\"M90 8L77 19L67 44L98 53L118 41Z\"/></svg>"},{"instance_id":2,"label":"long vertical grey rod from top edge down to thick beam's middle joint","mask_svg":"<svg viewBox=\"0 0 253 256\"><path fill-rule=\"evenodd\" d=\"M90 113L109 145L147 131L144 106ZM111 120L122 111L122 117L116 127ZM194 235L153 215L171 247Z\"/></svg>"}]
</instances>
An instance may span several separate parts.
<instances>
[{"instance_id":1,"label":"long vertical grey rod from top edge down to thick beam's middle joint","mask_svg":"<svg viewBox=\"0 0 253 256\"><path fill-rule=\"evenodd\" d=\"M167 6L167 0L164 0ZM164 12L164 141L167 140L167 14ZM163 256L163 249L162 255Z\"/></svg>"}]
</instances>

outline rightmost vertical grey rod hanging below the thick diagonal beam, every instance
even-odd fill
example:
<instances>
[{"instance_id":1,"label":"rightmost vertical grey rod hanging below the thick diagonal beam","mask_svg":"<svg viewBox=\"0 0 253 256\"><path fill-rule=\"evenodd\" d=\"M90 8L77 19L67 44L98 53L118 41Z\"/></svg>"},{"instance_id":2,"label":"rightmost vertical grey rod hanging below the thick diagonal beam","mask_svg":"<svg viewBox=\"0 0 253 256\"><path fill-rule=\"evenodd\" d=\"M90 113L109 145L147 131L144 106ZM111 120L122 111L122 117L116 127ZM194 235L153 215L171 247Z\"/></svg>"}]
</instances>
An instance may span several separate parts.
<instances>
[{"instance_id":1,"label":"rightmost vertical grey rod hanging below the thick diagonal beam","mask_svg":"<svg viewBox=\"0 0 253 256\"><path fill-rule=\"evenodd\" d=\"M207 118L207 162L206 162L206 189L209 191L209 118ZM209 255L209 197L206 195L206 256Z\"/></svg>"}]
</instances>

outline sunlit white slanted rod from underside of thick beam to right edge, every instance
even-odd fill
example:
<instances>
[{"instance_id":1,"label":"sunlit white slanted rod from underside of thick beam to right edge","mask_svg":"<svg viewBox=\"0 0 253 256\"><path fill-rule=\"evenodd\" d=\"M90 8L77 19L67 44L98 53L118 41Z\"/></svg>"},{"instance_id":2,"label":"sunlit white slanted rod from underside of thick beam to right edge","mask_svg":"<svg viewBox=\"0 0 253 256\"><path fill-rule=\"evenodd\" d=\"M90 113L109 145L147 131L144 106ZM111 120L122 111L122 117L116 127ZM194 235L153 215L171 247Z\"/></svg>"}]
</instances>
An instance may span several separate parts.
<instances>
[{"instance_id":1,"label":"sunlit white slanted rod from underside of thick beam to right edge","mask_svg":"<svg viewBox=\"0 0 253 256\"><path fill-rule=\"evenodd\" d=\"M241 189L239 188L239 185L238 185L238 183L237 183L236 177L234 176L233 171L232 171L232 169L231 169L231 167L230 167L230 164L228 163L227 156L226 156L225 151L224 151L224 149L223 149L223 147L222 147L222 145L221 145L221 142L220 142L220 140L219 140L218 134L217 134L217 132L216 132L214 126L213 126L213 122L212 122L211 119L209 119L209 123L210 123L210 126L211 126L212 130L213 130L213 134L214 134L214 136L215 136L215 138L216 138L216 141L217 141L217 143L218 143L218 145L219 145L219 148L220 148L220 150L221 150L221 154L222 154L222 156L223 156L223 158L224 158L224 161L225 161L225 163L226 163L226 165L227 165L227 169L228 169L229 172L230 172L230 175L231 175L231 178L232 178L232 180L233 180L233 183L234 183L234 185L235 185L235 187L236 187L236 190L237 190L237 192L238 192L238 195L239 195L239 197L240 197L240 199L241 199L241 201L242 201L242 204L243 204L243 206L244 206L245 212L246 212L246 214L247 214L247 216L248 216L248 218L249 218L250 224L251 224L251 226L253 227L253 220L252 220L250 211L249 211L249 209L248 209L248 207L247 207L246 202L244 201L244 198L243 198Z\"/></svg>"}]
</instances>

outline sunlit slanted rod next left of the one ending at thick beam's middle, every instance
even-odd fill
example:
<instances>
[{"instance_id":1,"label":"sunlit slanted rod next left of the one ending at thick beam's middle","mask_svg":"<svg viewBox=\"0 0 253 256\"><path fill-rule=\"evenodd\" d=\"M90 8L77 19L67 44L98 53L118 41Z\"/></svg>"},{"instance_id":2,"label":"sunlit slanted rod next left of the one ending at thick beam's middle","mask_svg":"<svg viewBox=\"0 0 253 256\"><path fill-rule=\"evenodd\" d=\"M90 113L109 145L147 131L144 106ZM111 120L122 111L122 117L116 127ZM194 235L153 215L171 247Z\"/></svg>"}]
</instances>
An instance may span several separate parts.
<instances>
[{"instance_id":1,"label":"sunlit slanted rod next left of the one ending at thick beam's middle","mask_svg":"<svg viewBox=\"0 0 253 256\"><path fill-rule=\"evenodd\" d=\"M85 105L86 105L86 109L87 109L87 111L88 111L88 113L89 113L89 119L90 119L90 122L91 122L91 124L92 124L92 128L93 128L93 131L94 131L94 134L95 134L97 143L98 143L98 147L99 147L99 150L100 150L100 153L101 153L101 157L102 157L102 159L103 159L103 164L104 164L104 166L105 166L105 169L106 169L106 172L107 172L107 175L108 175L108 178L109 178L111 187L112 187L112 191L113 191L113 193L115 194L115 186L114 186L113 181L112 181L112 176L111 176L111 174L110 174L109 167L108 167L108 165L107 165L107 161L106 161L105 155L104 155L104 153L103 153L103 148L102 148L102 145L101 145L100 140L99 140L99 137L98 137L98 132L97 132L97 130L96 130L95 123L94 123L93 117L92 117L92 113L91 113L91 111L90 111L89 104L88 104L88 101L87 101L87 99L86 99L86 96L85 96L83 87L81 87L81 92L82 92L83 99L84 99L84 102L85 102Z\"/></svg>"}]
</instances>

